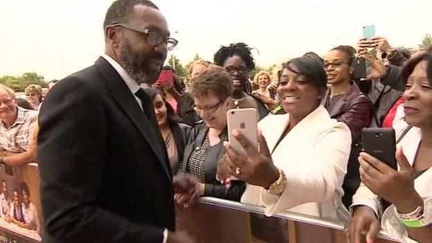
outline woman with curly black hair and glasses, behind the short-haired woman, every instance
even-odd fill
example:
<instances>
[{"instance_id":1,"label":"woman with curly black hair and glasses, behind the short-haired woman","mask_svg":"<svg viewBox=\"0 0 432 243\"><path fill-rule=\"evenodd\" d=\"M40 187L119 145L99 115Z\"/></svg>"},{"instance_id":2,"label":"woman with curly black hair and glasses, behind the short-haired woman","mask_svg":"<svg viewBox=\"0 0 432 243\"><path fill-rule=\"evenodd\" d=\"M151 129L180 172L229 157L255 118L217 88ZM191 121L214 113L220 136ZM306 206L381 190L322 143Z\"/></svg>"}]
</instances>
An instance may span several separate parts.
<instances>
[{"instance_id":1,"label":"woman with curly black hair and glasses, behind the short-haired woman","mask_svg":"<svg viewBox=\"0 0 432 243\"><path fill-rule=\"evenodd\" d=\"M235 107L255 108L260 120L269 113L264 103L251 96L248 73L255 69L251 48L244 43L222 46L215 53L214 62L231 74Z\"/></svg>"}]
</instances>

